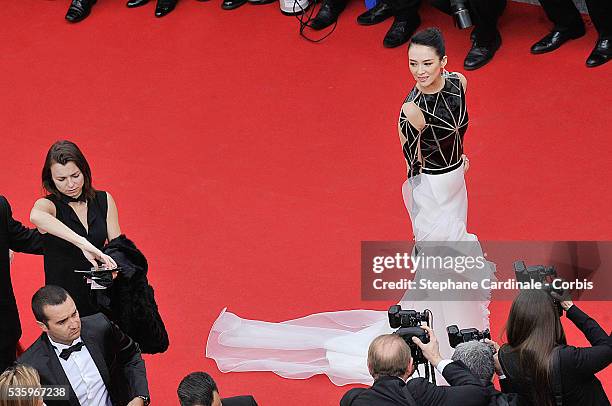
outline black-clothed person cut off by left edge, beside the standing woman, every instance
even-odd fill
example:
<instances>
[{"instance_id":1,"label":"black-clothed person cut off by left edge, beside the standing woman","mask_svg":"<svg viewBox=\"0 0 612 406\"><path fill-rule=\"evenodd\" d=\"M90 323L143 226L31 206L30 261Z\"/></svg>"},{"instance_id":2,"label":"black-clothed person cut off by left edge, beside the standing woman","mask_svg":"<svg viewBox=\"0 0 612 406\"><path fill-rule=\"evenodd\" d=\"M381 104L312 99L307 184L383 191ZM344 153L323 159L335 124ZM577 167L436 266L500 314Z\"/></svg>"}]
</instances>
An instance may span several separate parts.
<instances>
[{"instance_id":1,"label":"black-clothed person cut off by left edge, beside the standing woman","mask_svg":"<svg viewBox=\"0 0 612 406\"><path fill-rule=\"evenodd\" d=\"M37 230L13 219L11 206L0 196L0 373L15 362L21 325L13 285L10 251L42 254L42 239Z\"/></svg>"}]
</instances>

